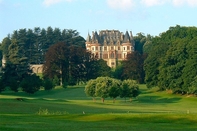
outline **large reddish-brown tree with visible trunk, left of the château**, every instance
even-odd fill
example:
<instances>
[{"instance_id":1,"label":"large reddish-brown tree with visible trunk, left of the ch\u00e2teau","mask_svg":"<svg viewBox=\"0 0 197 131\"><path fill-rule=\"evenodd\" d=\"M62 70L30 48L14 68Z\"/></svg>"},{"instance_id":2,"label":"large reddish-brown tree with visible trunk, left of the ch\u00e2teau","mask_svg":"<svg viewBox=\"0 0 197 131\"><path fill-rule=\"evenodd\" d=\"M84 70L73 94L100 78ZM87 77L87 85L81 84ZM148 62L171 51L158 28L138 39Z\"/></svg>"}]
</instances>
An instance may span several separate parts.
<instances>
[{"instance_id":1,"label":"large reddish-brown tree with visible trunk, left of the ch\u00e2teau","mask_svg":"<svg viewBox=\"0 0 197 131\"><path fill-rule=\"evenodd\" d=\"M54 79L55 76L62 85L64 80L69 79L69 48L65 43L52 45L47 54L43 65L44 76Z\"/></svg>"}]
</instances>

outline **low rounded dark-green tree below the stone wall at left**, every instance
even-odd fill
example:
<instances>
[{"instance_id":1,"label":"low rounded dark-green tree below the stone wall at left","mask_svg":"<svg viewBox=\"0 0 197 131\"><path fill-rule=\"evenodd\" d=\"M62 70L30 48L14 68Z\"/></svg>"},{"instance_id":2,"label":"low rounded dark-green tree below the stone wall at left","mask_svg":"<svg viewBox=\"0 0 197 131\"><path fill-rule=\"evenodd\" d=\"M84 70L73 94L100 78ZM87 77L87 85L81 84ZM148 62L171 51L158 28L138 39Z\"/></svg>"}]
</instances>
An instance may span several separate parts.
<instances>
[{"instance_id":1,"label":"low rounded dark-green tree below the stone wall at left","mask_svg":"<svg viewBox=\"0 0 197 131\"><path fill-rule=\"evenodd\" d=\"M40 77L36 76L35 74L28 75L20 83L22 90L29 94L34 94L37 92L41 85L42 81Z\"/></svg>"}]
</instances>

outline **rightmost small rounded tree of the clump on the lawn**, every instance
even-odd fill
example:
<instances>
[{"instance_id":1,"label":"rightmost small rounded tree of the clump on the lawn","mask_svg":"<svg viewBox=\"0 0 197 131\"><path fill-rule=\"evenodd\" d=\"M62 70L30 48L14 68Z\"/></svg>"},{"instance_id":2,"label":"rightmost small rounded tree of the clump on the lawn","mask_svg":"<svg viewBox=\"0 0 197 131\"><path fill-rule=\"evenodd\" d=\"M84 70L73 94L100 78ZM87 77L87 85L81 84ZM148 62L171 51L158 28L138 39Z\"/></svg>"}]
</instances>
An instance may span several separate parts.
<instances>
[{"instance_id":1,"label":"rightmost small rounded tree of the clump on the lawn","mask_svg":"<svg viewBox=\"0 0 197 131\"><path fill-rule=\"evenodd\" d=\"M139 86L135 80L124 80L122 82L120 97L125 98L125 101L127 97L131 101L132 97L136 98L139 94Z\"/></svg>"}]
</instances>

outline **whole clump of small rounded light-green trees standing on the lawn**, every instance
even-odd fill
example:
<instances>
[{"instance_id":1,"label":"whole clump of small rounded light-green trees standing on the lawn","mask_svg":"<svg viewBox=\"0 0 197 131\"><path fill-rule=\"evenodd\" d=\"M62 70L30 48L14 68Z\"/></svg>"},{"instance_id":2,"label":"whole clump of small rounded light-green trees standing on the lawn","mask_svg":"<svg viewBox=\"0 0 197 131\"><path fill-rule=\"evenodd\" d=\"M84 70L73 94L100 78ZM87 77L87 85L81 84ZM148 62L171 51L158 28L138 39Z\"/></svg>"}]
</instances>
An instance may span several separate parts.
<instances>
[{"instance_id":1,"label":"whole clump of small rounded light-green trees standing on the lawn","mask_svg":"<svg viewBox=\"0 0 197 131\"><path fill-rule=\"evenodd\" d=\"M113 102L115 102L118 96L124 97L126 100L127 97L138 96L140 92L135 80L120 81L110 77L98 77L88 81L85 86L85 93L87 96L93 97L93 99L101 97L102 102L107 97L113 98Z\"/></svg>"}]
</instances>

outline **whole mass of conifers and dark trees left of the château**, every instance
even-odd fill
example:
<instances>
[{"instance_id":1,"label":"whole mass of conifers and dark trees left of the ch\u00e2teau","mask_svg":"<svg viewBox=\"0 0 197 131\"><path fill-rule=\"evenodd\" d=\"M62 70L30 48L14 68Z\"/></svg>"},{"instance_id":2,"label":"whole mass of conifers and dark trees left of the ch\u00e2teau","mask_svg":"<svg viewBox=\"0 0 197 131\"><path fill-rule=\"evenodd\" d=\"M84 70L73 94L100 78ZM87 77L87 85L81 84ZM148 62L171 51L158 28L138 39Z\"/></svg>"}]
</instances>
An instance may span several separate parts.
<instances>
[{"instance_id":1,"label":"whole mass of conifers and dark trees left of the ch\u00e2teau","mask_svg":"<svg viewBox=\"0 0 197 131\"><path fill-rule=\"evenodd\" d=\"M105 61L86 51L85 40L76 30L20 29L3 39L1 52L6 63L0 72L0 92L9 87L35 93L41 86L50 90L111 73ZM44 64L42 79L32 73L31 64Z\"/></svg>"}]
</instances>

